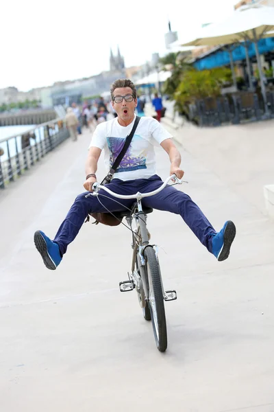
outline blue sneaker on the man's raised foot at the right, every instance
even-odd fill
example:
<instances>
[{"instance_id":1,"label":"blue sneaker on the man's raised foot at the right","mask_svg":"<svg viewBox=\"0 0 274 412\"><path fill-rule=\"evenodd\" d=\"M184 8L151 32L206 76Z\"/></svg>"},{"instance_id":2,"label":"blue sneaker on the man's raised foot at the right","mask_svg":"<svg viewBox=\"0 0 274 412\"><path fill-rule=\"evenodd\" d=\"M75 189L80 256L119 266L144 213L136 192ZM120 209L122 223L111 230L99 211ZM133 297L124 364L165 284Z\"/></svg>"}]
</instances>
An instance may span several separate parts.
<instances>
[{"instance_id":1,"label":"blue sneaker on the man's raised foot at the right","mask_svg":"<svg viewBox=\"0 0 274 412\"><path fill-rule=\"evenodd\" d=\"M227 220L223 229L212 238L212 253L221 262L229 256L230 247L236 236L234 222Z\"/></svg>"}]
</instances>

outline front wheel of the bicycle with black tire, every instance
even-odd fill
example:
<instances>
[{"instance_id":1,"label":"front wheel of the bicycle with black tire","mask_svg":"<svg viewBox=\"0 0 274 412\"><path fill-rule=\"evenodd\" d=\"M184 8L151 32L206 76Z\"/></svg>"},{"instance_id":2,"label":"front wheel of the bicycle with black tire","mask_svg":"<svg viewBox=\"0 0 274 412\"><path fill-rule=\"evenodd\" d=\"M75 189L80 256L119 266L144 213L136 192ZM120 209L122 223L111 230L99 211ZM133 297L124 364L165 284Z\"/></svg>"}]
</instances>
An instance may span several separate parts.
<instances>
[{"instance_id":1,"label":"front wheel of the bicycle with black tire","mask_svg":"<svg viewBox=\"0 0 274 412\"><path fill-rule=\"evenodd\" d=\"M144 255L147 262L149 308L151 312L154 338L158 350L160 350L160 352L165 352L167 347L166 314L164 311L160 267L153 247L146 247Z\"/></svg>"}]
</instances>

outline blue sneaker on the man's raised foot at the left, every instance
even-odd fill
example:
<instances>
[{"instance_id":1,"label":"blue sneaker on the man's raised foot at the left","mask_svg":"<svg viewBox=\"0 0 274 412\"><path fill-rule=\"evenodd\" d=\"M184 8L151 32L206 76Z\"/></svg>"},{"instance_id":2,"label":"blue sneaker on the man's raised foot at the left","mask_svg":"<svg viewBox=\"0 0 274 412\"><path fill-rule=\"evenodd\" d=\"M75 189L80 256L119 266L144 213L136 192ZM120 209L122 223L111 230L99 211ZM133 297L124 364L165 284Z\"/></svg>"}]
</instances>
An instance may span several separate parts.
<instances>
[{"instance_id":1,"label":"blue sneaker on the man's raised foot at the left","mask_svg":"<svg viewBox=\"0 0 274 412\"><path fill-rule=\"evenodd\" d=\"M51 271L55 271L62 260L58 244L50 240L41 230L34 233L34 244L42 256L45 266Z\"/></svg>"}]
</instances>

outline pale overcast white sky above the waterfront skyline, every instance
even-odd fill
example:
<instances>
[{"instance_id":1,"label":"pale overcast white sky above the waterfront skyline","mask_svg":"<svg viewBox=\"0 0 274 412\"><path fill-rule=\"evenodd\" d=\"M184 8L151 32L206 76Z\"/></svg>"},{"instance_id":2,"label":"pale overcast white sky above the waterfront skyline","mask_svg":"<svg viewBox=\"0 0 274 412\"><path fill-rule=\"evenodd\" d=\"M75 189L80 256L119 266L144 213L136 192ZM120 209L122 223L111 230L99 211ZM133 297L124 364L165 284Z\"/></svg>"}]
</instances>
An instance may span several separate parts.
<instances>
[{"instance_id":1,"label":"pale overcast white sky above the waterfront skyline","mask_svg":"<svg viewBox=\"0 0 274 412\"><path fill-rule=\"evenodd\" d=\"M202 23L232 14L237 0L3 0L0 89L27 91L109 69L117 45L127 67L165 52L164 33L196 37Z\"/></svg>"}]
</instances>

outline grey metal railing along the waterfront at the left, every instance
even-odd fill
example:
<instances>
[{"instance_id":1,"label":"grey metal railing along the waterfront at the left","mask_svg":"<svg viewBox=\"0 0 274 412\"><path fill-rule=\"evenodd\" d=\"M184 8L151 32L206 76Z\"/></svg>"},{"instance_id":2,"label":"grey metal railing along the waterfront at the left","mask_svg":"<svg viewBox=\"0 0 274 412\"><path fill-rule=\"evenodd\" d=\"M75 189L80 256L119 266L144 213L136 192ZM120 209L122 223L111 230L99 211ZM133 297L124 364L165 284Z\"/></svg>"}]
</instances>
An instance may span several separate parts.
<instances>
[{"instance_id":1,"label":"grey metal railing along the waterfront at the left","mask_svg":"<svg viewBox=\"0 0 274 412\"><path fill-rule=\"evenodd\" d=\"M0 140L0 190L69 137L62 119L40 124L27 132Z\"/></svg>"}]
</instances>

